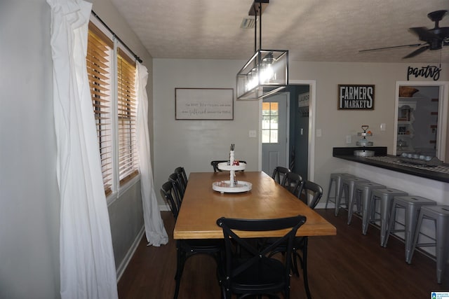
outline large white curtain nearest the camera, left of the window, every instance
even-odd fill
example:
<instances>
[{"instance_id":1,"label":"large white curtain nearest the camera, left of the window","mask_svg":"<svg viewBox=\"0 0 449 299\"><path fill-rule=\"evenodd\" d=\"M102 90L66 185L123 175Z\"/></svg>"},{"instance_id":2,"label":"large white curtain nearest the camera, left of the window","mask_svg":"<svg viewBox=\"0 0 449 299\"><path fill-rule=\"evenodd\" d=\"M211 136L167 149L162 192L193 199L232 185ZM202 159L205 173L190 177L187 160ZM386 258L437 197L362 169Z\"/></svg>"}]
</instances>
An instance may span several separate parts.
<instances>
[{"instance_id":1,"label":"large white curtain nearest the camera, left of the window","mask_svg":"<svg viewBox=\"0 0 449 299\"><path fill-rule=\"evenodd\" d=\"M86 71L92 4L47 2L61 205L61 298L114 299L118 298L114 252Z\"/></svg>"}]
</instances>

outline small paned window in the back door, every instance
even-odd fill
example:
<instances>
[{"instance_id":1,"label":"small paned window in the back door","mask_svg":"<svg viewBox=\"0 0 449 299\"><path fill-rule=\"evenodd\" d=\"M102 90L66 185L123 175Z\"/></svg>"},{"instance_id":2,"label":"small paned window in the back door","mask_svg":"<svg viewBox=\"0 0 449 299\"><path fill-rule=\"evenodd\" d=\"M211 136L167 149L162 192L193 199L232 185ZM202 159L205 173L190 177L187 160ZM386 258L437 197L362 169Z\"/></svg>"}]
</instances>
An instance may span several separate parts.
<instances>
[{"instance_id":1,"label":"small paned window in the back door","mask_svg":"<svg viewBox=\"0 0 449 299\"><path fill-rule=\"evenodd\" d=\"M277 144L279 120L279 104L277 102L262 103L262 143Z\"/></svg>"}]
</instances>

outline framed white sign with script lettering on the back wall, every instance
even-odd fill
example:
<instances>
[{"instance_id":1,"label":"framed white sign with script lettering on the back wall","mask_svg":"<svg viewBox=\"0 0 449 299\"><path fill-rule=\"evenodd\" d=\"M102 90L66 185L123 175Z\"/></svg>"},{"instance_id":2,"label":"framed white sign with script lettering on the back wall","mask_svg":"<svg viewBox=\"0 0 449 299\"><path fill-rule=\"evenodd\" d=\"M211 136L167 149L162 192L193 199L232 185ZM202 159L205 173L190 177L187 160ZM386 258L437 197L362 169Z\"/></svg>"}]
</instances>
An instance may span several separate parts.
<instances>
[{"instance_id":1,"label":"framed white sign with script lettering on the back wall","mask_svg":"<svg viewBox=\"0 0 449 299\"><path fill-rule=\"evenodd\" d=\"M175 88L175 119L233 120L233 88Z\"/></svg>"}]
</instances>

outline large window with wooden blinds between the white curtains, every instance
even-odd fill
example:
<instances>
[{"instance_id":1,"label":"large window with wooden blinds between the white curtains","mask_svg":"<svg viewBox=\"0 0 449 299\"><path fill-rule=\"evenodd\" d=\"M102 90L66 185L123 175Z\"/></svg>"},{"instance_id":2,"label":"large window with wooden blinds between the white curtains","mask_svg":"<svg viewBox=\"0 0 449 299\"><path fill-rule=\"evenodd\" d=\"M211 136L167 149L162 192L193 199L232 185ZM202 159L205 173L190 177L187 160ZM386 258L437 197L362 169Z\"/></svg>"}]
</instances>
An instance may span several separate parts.
<instances>
[{"instance_id":1,"label":"large window with wooden blinds between the white curtains","mask_svg":"<svg viewBox=\"0 0 449 299\"><path fill-rule=\"evenodd\" d=\"M135 62L112 39L89 24L86 62L106 195L138 174Z\"/></svg>"}]
</instances>

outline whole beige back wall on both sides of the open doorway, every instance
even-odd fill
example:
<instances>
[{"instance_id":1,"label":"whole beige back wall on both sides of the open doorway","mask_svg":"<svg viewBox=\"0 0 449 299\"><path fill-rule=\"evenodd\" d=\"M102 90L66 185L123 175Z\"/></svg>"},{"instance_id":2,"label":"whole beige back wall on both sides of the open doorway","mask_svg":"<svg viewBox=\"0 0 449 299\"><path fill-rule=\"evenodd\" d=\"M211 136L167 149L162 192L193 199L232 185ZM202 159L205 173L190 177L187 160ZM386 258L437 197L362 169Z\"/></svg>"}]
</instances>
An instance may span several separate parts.
<instances>
[{"instance_id":1,"label":"whole beige back wall on both sides of the open doorway","mask_svg":"<svg viewBox=\"0 0 449 299\"><path fill-rule=\"evenodd\" d=\"M154 151L155 187L160 188L177 166L187 172L210 171L210 160L226 158L229 144L236 144L236 155L246 159L250 170L257 170L258 139L248 138L248 130L258 130L258 103L234 102L233 121L175 120L175 88L234 88L235 76L243 61L154 59ZM290 62L290 80L316 81L315 177L327 192L330 172L348 169L346 161L333 158L336 146L356 146L361 125L369 125L375 146L394 141L396 81L404 81L408 66L422 64ZM447 70L448 64L443 64ZM429 81L421 79L420 81ZM447 71L440 81L448 81ZM414 81L416 81L414 79ZM375 85L373 111L339 111L338 84ZM235 92L235 90L234 90ZM387 130L380 131L385 123ZM346 135L352 144L346 144ZM250 158L248 158L250 157ZM163 201L160 201L163 204Z\"/></svg>"}]
</instances>

